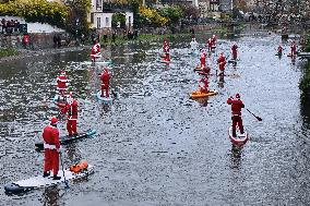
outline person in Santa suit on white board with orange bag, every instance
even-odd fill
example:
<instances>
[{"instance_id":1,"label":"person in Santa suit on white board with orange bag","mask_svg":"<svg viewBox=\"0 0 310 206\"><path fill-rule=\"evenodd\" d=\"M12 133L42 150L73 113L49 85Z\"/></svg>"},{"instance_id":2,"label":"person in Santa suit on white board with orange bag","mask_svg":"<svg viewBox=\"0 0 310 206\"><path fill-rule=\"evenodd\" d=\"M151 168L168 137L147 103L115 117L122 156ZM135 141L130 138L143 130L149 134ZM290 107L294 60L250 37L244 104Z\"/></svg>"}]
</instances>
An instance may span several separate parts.
<instances>
[{"instance_id":1,"label":"person in Santa suit on white board with orange bag","mask_svg":"<svg viewBox=\"0 0 310 206\"><path fill-rule=\"evenodd\" d=\"M44 178L50 175L50 170L52 170L52 180L60 180L58 177L59 170L59 130L57 129L58 119L52 117L50 119L49 125L45 126L43 131L44 140Z\"/></svg>"}]
</instances>

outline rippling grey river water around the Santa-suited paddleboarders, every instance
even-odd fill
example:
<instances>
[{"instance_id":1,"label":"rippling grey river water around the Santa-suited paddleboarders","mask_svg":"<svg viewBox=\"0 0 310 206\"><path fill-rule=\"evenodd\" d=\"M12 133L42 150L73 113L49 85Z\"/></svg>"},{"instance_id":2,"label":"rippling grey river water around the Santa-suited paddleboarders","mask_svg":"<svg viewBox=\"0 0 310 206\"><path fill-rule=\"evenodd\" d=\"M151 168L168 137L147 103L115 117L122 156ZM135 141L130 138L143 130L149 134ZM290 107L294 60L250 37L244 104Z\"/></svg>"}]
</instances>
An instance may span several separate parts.
<instances>
[{"instance_id":1,"label":"rippling grey river water around the Santa-suited paddleboarders","mask_svg":"<svg viewBox=\"0 0 310 206\"><path fill-rule=\"evenodd\" d=\"M204 38L205 40L205 38ZM171 40L172 63L157 60L162 43L106 48L115 62L112 106L98 102L99 66L85 66L90 51L60 52L1 64L1 185L43 173L43 154L34 144L56 107L53 82L60 70L72 80L79 100L79 131L95 129L93 138L64 146L70 166L81 159L95 166L88 179L7 195L0 205L308 205L310 204L309 111L300 102L302 64L286 54L274 34L247 34L237 66L227 64L225 80L210 78L217 96L189 99L198 89L188 54L190 39ZM199 38L202 41L202 37ZM219 39L207 62L215 72L219 51L229 53L231 39ZM288 43L283 43L285 53ZM250 141L231 146L230 95L240 93ZM65 134L65 123L60 124Z\"/></svg>"}]
</instances>

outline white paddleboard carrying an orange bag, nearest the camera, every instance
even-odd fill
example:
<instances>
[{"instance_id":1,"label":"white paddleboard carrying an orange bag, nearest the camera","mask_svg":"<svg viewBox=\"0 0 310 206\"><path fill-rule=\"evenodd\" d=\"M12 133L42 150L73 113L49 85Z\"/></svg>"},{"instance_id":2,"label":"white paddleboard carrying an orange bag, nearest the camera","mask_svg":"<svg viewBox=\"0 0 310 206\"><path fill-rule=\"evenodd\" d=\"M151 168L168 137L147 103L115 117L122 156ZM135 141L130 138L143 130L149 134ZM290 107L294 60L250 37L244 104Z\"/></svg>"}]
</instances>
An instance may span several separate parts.
<instances>
[{"instance_id":1,"label":"white paddleboard carrying an orange bag, nearest the camera","mask_svg":"<svg viewBox=\"0 0 310 206\"><path fill-rule=\"evenodd\" d=\"M91 166L91 165L88 165L87 169L82 170L79 173L71 172L69 169L64 170L64 177L67 181L82 179L92 173L94 173L94 166ZM48 187L48 186L57 185L60 183L64 183L62 170L58 171L58 177L61 177L61 179L52 180L52 174L51 174L46 178L43 178L43 175L36 175L29 179L11 182L4 185L4 191L5 193L9 193L9 194L17 194L17 193L24 193L24 192L28 192L32 190L36 190L36 189Z\"/></svg>"}]
</instances>

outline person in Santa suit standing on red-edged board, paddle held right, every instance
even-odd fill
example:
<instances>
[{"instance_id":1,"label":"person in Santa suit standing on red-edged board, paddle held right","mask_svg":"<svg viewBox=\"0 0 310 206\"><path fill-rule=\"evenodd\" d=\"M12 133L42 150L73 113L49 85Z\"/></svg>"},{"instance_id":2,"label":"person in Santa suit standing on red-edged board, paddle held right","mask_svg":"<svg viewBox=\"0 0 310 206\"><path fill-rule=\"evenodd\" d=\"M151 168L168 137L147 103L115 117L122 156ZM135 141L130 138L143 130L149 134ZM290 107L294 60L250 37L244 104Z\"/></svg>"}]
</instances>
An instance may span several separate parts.
<instances>
[{"instance_id":1,"label":"person in Santa suit standing on red-edged board, paddle held right","mask_svg":"<svg viewBox=\"0 0 310 206\"><path fill-rule=\"evenodd\" d=\"M236 99L229 97L227 104L231 105L231 120L233 120L233 136L236 137L236 126L238 124L240 133L243 134L243 124L241 118L241 109L245 108L245 104L240 100L240 95L236 94Z\"/></svg>"}]
</instances>

